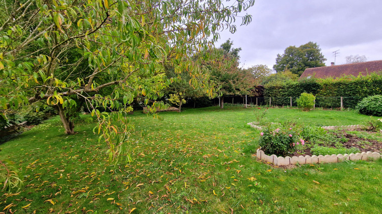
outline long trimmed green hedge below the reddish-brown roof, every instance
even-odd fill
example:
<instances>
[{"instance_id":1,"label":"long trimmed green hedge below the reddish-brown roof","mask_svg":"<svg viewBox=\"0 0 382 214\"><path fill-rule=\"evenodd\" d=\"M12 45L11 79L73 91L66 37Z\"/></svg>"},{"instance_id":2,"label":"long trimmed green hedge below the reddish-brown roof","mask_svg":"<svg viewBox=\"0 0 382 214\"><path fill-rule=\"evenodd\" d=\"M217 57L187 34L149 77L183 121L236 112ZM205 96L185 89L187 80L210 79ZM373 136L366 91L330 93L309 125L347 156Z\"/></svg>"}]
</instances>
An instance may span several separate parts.
<instances>
[{"instance_id":1,"label":"long trimmed green hedge below the reddish-brown roof","mask_svg":"<svg viewBox=\"0 0 382 214\"><path fill-rule=\"evenodd\" d=\"M355 108L365 97L382 94L382 75L374 73L367 76L346 76L338 79L305 79L288 82L284 85L266 85L264 97L272 105L296 105L296 98L302 93L316 96L316 106L323 108L339 108L340 97L343 97L344 108Z\"/></svg>"}]
</instances>

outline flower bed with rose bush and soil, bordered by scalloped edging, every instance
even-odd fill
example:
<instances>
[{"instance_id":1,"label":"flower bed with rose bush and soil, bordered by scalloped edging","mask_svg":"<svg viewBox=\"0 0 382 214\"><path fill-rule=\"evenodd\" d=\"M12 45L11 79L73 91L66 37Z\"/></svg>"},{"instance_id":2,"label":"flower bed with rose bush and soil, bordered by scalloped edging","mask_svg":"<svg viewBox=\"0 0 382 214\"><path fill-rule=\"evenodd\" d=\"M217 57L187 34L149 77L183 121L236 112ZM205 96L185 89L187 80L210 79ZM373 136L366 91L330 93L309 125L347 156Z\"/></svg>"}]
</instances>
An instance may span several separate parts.
<instances>
[{"instance_id":1,"label":"flower bed with rose bush and soil, bordered by scalloped edging","mask_svg":"<svg viewBox=\"0 0 382 214\"><path fill-rule=\"evenodd\" d=\"M261 130L259 145L262 150L257 150L257 158L278 166L381 158L381 134L360 130L364 128L361 125L249 125Z\"/></svg>"}]
</instances>

